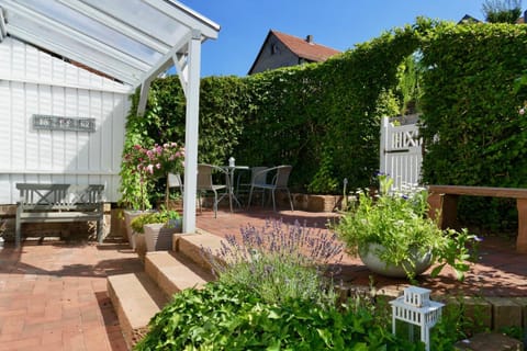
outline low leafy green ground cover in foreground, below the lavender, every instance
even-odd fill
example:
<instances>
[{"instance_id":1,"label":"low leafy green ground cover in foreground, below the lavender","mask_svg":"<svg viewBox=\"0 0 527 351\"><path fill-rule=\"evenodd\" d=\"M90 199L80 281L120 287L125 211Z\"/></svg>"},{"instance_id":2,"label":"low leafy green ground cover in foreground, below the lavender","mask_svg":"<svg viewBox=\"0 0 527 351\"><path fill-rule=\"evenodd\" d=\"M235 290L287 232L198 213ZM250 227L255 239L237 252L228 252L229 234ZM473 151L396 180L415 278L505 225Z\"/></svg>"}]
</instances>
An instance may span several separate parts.
<instances>
[{"instance_id":1,"label":"low leafy green ground cover in foreground, below the lavender","mask_svg":"<svg viewBox=\"0 0 527 351\"><path fill-rule=\"evenodd\" d=\"M366 306L268 304L243 285L186 290L158 313L135 350L424 350L396 339Z\"/></svg>"}]
</instances>

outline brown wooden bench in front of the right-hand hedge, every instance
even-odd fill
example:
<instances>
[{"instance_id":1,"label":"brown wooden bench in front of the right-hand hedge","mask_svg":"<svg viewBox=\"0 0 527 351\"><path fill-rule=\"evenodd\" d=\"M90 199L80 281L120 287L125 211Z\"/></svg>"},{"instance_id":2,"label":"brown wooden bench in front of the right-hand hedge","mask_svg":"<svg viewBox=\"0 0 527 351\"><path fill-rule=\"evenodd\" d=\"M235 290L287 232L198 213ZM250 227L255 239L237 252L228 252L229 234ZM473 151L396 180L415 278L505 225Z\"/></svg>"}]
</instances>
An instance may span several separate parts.
<instances>
[{"instance_id":1,"label":"brown wooden bench in front of the right-hand hedge","mask_svg":"<svg viewBox=\"0 0 527 351\"><path fill-rule=\"evenodd\" d=\"M441 228L456 228L458 197L460 195L516 199L518 210L516 251L527 253L527 189L428 185L429 215L431 218L436 218L437 214L439 214Z\"/></svg>"}]
</instances>

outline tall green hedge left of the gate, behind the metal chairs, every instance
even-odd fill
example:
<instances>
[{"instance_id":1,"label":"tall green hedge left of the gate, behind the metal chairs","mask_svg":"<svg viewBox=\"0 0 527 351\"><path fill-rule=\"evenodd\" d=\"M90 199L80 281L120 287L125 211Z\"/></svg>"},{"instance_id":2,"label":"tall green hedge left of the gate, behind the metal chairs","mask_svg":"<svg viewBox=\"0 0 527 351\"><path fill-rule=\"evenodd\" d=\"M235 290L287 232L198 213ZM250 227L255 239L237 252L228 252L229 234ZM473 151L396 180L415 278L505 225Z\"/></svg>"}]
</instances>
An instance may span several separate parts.
<instances>
[{"instance_id":1,"label":"tall green hedge left of the gate, behind the metal chairs","mask_svg":"<svg viewBox=\"0 0 527 351\"><path fill-rule=\"evenodd\" d=\"M234 156L239 165L289 163L293 191L340 193L345 178L351 188L370 185L380 117L400 110L397 66L417 44L405 27L323 64L202 79L199 161L221 165ZM184 140L177 77L153 83L145 116L128 117L127 139Z\"/></svg>"}]
</instances>

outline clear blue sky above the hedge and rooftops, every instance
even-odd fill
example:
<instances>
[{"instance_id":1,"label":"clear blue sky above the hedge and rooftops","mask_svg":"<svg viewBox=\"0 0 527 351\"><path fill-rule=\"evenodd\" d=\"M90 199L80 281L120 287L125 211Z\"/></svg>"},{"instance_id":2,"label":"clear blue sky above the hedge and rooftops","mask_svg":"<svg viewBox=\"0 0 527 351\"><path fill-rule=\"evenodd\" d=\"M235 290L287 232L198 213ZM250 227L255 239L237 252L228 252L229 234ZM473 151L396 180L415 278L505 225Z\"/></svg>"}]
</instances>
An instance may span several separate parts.
<instances>
[{"instance_id":1,"label":"clear blue sky above the hedge and rooftops","mask_svg":"<svg viewBox=\"0 0 527 351\"><path fill-rule=\"evenodd\" d=\"M338 50L383 32L415 23L417 16L458 22L484 20L485 0L179 0L221 26L202 46L201 76L246 76L270 30Z\"/></svg>"}]
</instances>

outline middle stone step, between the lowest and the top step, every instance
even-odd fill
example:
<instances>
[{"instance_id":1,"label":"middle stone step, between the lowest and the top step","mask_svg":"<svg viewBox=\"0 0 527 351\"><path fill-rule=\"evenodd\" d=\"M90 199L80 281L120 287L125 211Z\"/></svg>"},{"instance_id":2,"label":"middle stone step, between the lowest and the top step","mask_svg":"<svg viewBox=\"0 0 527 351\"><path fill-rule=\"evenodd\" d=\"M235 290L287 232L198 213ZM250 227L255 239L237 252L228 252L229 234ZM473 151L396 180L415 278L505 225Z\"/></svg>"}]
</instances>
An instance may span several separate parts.
<instances>
[{"instance_id":1,"label":"middle stone step, between the lowest and the top step","mask_svg":"<svg viewBox=\"0 0 527 351\"><path fill-rule=\"evenodd\" d=\"M145 257L145 272L167 298L184 288L201 288L214 281L211 270L173 251L148 252Z\"/></svg>"}]
</instances>

